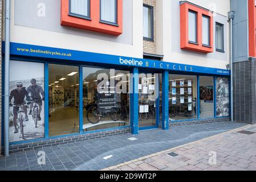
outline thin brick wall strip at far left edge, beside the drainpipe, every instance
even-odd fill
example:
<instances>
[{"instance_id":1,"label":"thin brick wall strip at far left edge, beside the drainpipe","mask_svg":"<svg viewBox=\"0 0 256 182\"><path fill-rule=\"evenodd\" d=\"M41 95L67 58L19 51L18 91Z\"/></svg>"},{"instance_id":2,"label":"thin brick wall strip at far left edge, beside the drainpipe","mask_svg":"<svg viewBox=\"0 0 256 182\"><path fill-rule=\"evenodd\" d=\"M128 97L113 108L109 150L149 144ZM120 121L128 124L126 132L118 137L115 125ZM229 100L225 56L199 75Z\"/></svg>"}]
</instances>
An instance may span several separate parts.
<instances>
[{"instance_id":1,"label":"thin brick wall strip at far left edge, beside the drainpipe","mask_svg":"<svg viewBox=\"0 0 256 182\"><path fill-rule=\"evenodd\" d=\"M3 0L0 0L0 52L2 52ZM0 53L0 96L2 96L2 53ZM2 146L2 97L0 97L0 151ZM0 152L1 154L1 152Z\"/></svg>"}]
</instances>

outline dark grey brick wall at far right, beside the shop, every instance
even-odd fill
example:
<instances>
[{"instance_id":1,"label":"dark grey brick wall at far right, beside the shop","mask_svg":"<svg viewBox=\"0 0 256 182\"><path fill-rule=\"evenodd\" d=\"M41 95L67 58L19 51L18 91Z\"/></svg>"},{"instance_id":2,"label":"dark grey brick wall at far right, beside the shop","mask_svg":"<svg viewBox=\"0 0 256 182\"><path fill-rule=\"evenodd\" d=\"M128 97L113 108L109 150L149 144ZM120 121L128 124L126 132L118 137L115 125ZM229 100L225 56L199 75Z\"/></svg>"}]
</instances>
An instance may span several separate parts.
<instances>
[{"instance_id":1,"label":"dark grey brick wall at far right, beside the shop","mask_svg":"<svg viewBox=\"0 0 256 182\"><path fill-rule=\"evenodd\" d=\"M234 121L256 122L256 59L233 64Z\"/></svg>"}]
</instances>

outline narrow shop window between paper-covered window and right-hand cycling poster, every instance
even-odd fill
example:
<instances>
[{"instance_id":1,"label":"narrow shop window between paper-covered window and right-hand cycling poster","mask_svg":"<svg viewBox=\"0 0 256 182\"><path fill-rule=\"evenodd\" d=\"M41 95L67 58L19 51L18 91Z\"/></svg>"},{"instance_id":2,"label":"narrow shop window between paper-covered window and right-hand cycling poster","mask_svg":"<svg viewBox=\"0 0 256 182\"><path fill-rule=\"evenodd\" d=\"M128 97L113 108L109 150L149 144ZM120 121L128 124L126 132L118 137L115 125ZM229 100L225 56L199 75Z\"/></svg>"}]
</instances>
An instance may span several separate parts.
<instances>
[{"instance_id":1,"label":"narrow shop window between paper-covered window and right-hand cycling poster","mask_svg":"<svg viewBox=\"0 0 256 182\"><path fill-rule=\"evenodd\" d=\"M214 117L213 77L200 76L200 118Z\"/></svg>"}]
</instances>

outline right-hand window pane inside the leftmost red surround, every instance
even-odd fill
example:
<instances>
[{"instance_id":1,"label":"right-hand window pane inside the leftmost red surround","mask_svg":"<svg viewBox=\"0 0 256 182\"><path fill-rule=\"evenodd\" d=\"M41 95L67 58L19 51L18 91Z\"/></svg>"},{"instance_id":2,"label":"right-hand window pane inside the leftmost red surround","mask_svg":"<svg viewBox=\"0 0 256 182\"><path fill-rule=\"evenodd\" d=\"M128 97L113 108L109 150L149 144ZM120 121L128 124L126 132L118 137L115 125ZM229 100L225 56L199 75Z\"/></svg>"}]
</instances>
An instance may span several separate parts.
<instances>
[{"instance_id":1,"label":"right-hand window pane inside the leftmost red surround","mask_svg":"<svg viewBox=\"0 0 256 182\"><path fill-rule=\"evenodd\" d=\"M117 0L100 0L100 20L117 24Z\"/></svg>"}]
</instances>

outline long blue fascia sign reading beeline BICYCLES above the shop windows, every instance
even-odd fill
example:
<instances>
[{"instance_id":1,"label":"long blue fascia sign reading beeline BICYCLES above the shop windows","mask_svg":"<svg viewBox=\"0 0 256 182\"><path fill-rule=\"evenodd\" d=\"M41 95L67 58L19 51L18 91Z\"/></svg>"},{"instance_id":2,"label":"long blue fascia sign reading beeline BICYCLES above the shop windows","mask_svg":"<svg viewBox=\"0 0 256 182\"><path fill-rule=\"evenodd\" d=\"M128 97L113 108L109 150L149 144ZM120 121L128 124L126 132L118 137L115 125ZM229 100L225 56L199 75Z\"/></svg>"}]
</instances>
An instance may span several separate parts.
<instances>
[{"instance_id":1,"label":"long blue fascia sign reading beeline BICYCLES above the shop windows","mask_svg":"<svg viewBox=\"0 0 256 182\"><path fill-rule=\"evenodd\" d=\"M157 60L137 59L134 57L107 55L102 53L75 51L71 49L43 47L13 42L10 43L10 53L11 55L18 56L44 57L47 59L84 61L88 63L114 64L129 67L155 68L169 71L182 71L230 76L230 71L225 69L199 67L196 65L177 64Z\"/></svg>"}]
</instances>

